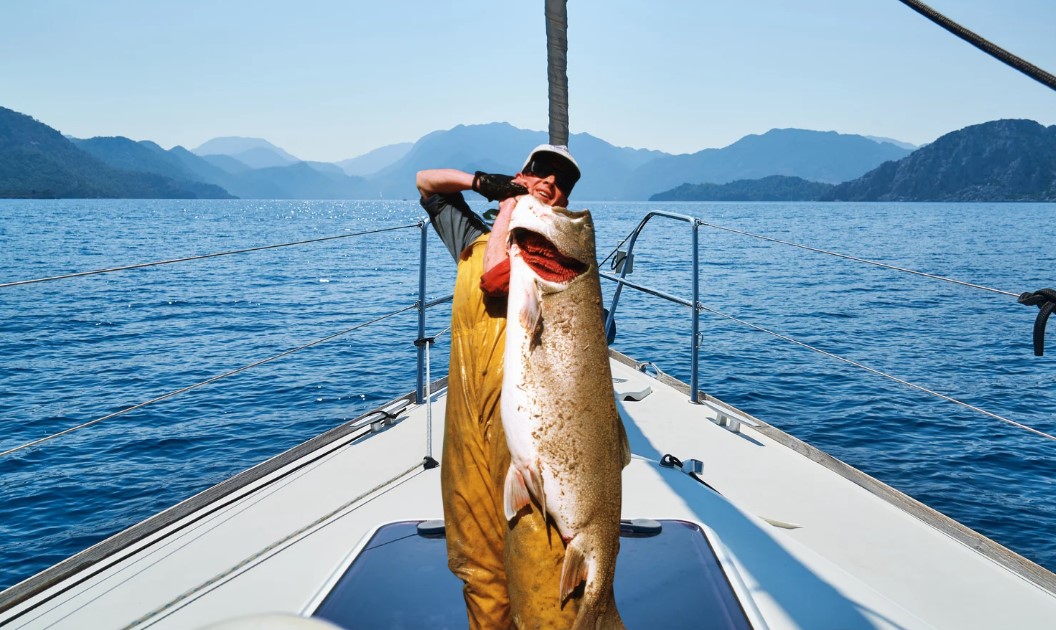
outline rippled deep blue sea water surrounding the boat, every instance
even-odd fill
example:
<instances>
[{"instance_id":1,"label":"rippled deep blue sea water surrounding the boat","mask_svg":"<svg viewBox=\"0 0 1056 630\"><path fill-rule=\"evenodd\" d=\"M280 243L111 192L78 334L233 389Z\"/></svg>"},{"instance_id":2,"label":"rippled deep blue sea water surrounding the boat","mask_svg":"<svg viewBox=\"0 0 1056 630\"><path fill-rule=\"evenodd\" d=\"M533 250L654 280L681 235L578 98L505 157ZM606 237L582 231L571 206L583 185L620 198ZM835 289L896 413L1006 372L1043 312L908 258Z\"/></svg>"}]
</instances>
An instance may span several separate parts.
<instances>
[{"instance_id":1,"label":"rippled deep blue sea water surrounding the boat","mask_svg":"<svg viewBox=\"0 0 1056 630\"><path fill-rule=\"evenodd\" d=\"M583 205L599 257L662 209L1013 293L1056 285L1053 204ZM0 201L0 283L347 235L0 288L0 451L413 304L419 229L356 234L421 216L414 201ZM690 243L655 219L633 278L689 298ZM429 247L438 298L453 263ZM699 251L709 309L1056 434L1037 308L715 227ZM625 291L615 347L687 381L689 314ZM711 312L701 333L702 389L1056 569L1056 442ZM397 314L0 458L0 588L411 390L416 336Z\"/></svg>"}]
</instances>

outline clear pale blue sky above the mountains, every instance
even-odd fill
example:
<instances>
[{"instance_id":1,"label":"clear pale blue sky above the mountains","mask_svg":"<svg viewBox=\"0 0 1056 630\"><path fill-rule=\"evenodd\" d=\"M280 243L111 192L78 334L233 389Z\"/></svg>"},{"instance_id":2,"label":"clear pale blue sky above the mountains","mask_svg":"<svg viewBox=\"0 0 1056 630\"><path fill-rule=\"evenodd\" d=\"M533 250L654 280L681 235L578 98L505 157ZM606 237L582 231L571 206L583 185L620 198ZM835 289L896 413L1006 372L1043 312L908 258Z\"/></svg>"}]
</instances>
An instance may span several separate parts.
<instances>
[{"instance_id":1,"label":"clear pale blue sky above the mountains","mask_svg":"<svg viewBox=\"0 0 1056 630\"><path fill-rule=\"evenodd\" d=\"M931 6L1056 73L1053 0ZM77 137L263 137L339 160L547 129L543 1L5 0L0 106ZM773 128L924 144L1056 92L897 0L569 0L573 133L689 153ZM574 151L574 147L572 147Z\"/></svg>"}]
</instances>

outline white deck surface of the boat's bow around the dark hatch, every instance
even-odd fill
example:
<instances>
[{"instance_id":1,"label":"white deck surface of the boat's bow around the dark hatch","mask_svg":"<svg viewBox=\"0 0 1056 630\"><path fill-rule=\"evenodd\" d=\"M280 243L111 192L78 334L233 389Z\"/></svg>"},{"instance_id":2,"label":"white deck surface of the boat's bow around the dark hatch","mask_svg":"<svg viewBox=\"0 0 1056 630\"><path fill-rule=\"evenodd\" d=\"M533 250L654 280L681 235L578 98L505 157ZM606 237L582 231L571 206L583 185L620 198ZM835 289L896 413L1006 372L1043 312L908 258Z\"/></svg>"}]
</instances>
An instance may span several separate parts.
<instances>
[{"instance_id":1,"label":"white deck surface of the boat's bow around the dark hatch","mask_svg":"<svg viewBox=\"0 0 1056 630\"><path fill-rule=\"evenodd\" d=\"M624 471L624 518L680 518L715 532L769 627L1056 626L1052 593L762 433L730 433L674 388L615 361L612 369L618 393L653 390L620 403L635 454ZM433 408L437 459L442 416L440 398ZM412 406L388 431L291 474L280 471L271 476L280 480L261 480L204 518L188 516L192 524L153 536L113 567L54 587L64 592L24 615L12 618L48 593L0 613L0 626L197 628L302 611L379 523L441 518L439 469L418 466L384 485L426 450L426 409ZM659 467L667 453L702 460L702 478L722 497Z\"/></svg>"}]
</instances>

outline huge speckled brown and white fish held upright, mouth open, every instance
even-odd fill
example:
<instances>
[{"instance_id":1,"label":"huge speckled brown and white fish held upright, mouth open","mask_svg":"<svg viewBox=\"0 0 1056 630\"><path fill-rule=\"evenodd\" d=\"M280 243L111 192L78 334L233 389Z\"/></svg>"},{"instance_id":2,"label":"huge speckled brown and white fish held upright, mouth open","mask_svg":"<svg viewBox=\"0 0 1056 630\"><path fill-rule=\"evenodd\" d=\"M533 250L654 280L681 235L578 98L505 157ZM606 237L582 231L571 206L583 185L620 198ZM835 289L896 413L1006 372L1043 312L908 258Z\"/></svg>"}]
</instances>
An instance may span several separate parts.
<instances>
[{"instance_id":1,"label":"huge speckled brown and white fish held upright, mouth open","mask_svg":"<svg viewBox=\"0 0 1056 630\"><path fill-rule=\"evenodd\" d=\"M561 600L586 581L573 627L620 628L612 579L630 448L612 395L593 222L525 196L509 230L506 518L534 498L566 543Z\"/></svg>"}]
</instances>

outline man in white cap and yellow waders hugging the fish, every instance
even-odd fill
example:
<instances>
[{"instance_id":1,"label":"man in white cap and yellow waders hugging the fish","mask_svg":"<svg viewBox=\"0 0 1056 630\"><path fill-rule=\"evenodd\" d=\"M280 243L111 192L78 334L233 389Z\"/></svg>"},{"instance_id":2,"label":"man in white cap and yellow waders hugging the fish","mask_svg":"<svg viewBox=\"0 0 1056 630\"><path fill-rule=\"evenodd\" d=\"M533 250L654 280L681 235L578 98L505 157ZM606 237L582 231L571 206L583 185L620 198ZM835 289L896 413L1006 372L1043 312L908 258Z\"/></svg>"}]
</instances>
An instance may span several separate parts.
<instances>
[{"instance_id":1,"label":"man in white cap and yellow waders hugging the fish","mask_svg":"<svg viewBox=\"0 0 1056 630\"><path fill-rule=\"evenodd\" d=\"M539 505L507 523L503 483L510 464L499 417L506 291L506 238L516 198L567 206L580 178L568 149L541 145L516 175L420 171L421 205L458 264L451 309L451 365L440 478L448 566L465 584L470 628L569 627L578 600L559 599L561 537ZM491 228L466 204L473 190L498 201Z\"/></svg>"}]
</instances>

